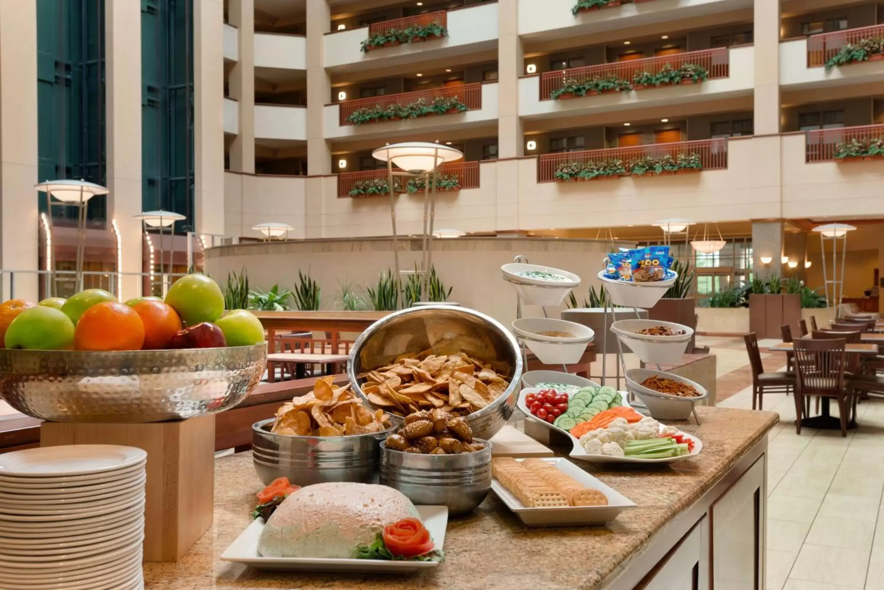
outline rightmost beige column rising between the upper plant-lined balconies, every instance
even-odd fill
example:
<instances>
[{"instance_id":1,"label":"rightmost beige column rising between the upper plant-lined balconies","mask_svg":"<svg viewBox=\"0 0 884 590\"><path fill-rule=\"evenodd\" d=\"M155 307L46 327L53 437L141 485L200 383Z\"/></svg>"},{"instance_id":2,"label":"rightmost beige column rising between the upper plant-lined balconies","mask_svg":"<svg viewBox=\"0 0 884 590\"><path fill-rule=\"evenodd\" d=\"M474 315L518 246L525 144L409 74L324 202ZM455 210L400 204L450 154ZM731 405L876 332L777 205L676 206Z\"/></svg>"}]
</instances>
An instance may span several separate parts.
<instances>
[{"instance_id":1,"label":"rightmost beige column rising between the upper plant-lined balconies","mask_svg":"<svg viewBox=\"0 0 884 590\"><path fill-rule=\"evenodd\" d=\"M780 133L780 0L755 0L755 134Z\"/></svg>"}]
</instances>

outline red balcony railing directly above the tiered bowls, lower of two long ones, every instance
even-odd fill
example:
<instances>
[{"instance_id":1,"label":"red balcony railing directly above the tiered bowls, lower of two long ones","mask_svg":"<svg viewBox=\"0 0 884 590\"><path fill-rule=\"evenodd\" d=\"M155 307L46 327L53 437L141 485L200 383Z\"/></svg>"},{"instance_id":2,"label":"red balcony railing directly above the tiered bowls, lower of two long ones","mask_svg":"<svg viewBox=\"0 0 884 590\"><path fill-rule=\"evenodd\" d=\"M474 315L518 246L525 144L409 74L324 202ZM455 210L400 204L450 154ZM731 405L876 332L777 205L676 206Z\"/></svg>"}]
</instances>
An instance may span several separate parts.
<instances>
[{"instance_id":1,"label":"red balcony railing directly above the tiered bowls, lower of two long ones","mask_svg":"<svg viewBox=\"0 0 884 590\"><path fill-rule=\"evenodd\" d=\"M555 171L567 162L605 162L612 159L623 160L629 175L629 162L643 156L661 157L668 154L677 158L679 154L688 156L697 154L703 170L715 170L728 167L728 140L705 139L697 142L652 143L630 148L591 149L589 151L572 151L564 154L544 154L540 157L540 170L537 182L555 180Z\"/></svg>"}]
</instances>

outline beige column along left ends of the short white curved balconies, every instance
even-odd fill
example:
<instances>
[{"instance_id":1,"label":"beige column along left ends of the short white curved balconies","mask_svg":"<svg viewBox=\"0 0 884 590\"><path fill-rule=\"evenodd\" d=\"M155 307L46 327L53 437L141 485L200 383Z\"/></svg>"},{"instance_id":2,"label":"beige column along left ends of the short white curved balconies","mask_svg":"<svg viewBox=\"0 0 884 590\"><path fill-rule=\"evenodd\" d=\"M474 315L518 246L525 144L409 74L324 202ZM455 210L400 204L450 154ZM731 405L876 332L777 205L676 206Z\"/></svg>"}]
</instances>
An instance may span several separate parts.
<instances>
[{"instance_id":1,"label":"beige column along left ends of the short white curved balconies","mask_svg":"<svg viewBox=\"0 0 884 590\"><path fill-rule=\"evenodd\" d=\"M255 172L255 0L231 0L228 19L237 27L240 60L230 74L230 96L240 106L240 133L230 149L232 172Z\"/></svg>"}]
</instances>

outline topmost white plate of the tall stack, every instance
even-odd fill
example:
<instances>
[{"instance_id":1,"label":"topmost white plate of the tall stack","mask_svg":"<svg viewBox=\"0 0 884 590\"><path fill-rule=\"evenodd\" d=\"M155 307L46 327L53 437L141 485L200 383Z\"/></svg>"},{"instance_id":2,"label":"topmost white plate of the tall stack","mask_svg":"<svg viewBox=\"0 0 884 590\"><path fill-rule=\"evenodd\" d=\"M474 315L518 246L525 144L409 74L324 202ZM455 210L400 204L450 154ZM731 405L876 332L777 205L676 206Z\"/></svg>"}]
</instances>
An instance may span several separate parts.
<instances>
[{"instance_id":1,"label":"topmost white plate of the tall stack","mask_svg":"<svg viewBox=\"0 0 884 590\"><path fill-rule=\"evenodd\" d=\"M144 463L142 448L118 445L64 445L26 448L0 455L0 475L26 478L106 473Z\"/></svg>"}]
</instances>

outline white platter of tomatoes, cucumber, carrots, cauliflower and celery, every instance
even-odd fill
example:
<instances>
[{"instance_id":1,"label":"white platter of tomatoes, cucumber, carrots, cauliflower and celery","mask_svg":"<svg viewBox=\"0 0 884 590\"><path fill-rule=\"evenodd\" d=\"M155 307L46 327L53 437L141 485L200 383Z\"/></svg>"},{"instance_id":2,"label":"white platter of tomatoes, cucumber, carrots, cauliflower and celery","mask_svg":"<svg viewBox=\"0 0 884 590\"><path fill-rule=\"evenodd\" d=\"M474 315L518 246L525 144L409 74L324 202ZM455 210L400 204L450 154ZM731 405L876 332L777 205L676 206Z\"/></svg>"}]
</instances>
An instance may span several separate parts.
<instances>
[{"instance_id":1,"label":"white platter of tomatoes, cucumber, carrots, cauliflower and celery","mask_svg":"<svg viewBox=\"0 0 884 590\"><path fill-rule=\"evenodd\" d=\"M703 442L696 436L662 425L630 408L613 387L553 392L555 397L547 402L549 391L525 387L516 406L526 420L568 436L573 444L568 456L572 458L593 463L675 463L697 456L703 449ZM541 402L540 408L537 402ZM551 407L544 408L546 404Z\"/></svg>"}]
</instances>

